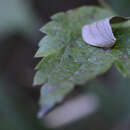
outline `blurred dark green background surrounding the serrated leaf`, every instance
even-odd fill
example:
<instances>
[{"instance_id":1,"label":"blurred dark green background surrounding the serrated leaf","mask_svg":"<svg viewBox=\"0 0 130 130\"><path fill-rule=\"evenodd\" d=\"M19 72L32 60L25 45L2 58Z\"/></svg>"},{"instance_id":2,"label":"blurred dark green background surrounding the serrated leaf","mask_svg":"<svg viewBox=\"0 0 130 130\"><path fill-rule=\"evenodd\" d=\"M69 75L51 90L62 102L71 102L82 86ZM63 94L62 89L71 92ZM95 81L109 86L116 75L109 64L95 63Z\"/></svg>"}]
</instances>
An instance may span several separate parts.
<instances>
[{"instance_id":1,"label":"blurred dark green background surrounding the serrated leaf","mask_svg":"<svg viewBox=\"0 0 130 130\"><path fill-rule=\"evenodd\" d=\"M34 67L39 61L33 56L44 35L39 29L57 12L83 5L100 5L99 1L0 0L0 130L47 129L44 126L60 130L130 130L130 80L123 78L114 67L97 79L76 86L63 103L56 106L58 110L52 110L45 117L45 121L37 119L40 86L34 88L32 82ZM130 16L130 0L106 2L117 14ZM74 105L70 100L79 95L88 98L90 94L98 99L94 98L98 107L94 105L95 109L90 114L79 114L80 118L70 120L80 113L73 113L74 106L79 108L84 103L79 104L76 99ZM66 109L67 103L72 106L72 111ZM87 103L89 108L91 99ZM63 115L61 109L69 116ZM66 120L69 123L64 123Z\"/></svg>"}]
</instances>

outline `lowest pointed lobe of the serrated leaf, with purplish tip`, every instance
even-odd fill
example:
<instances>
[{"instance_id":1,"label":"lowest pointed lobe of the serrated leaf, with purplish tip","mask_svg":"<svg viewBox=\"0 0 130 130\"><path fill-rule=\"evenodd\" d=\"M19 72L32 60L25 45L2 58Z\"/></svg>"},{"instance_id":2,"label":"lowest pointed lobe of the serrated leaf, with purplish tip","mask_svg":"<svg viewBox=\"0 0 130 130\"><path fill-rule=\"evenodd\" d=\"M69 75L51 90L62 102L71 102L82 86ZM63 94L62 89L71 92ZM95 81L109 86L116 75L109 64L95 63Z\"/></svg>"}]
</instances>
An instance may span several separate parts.
<instances>
[{"instance_id":1,"label":"lowest pointed lobe of the serrated leaf, with purplish tip","mask_svg":"<svg viewBox=\"0 0 130 130\"><path fill-rule=\"evenodd\" d=\"M72 89L74 88L72 83L64 82L57 84L56 86L50 86L45 84L41 88L40 105L42 106L38 117L42 118L54 105L63 100Z\"/></svg>"}]
</instances>

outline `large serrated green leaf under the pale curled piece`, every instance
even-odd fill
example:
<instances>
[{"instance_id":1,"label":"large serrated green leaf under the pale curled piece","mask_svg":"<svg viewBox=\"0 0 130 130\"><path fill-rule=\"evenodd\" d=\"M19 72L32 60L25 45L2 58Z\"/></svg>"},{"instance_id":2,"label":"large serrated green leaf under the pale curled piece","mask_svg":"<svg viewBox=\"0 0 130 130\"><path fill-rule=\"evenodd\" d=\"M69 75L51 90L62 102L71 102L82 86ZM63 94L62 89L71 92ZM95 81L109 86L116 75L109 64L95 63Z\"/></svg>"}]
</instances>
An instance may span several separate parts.
<instances>
[{"instance_id":1,"label":"large serrated green leaf under the pale curled piece","mask_svg":"<svg viewBox=\"0 0 130 130\"><path fill-rule=\"evenodd\" d=\"M114 13L109 10L94 6L82 7L54 15L53 21L41 29L47 36L41 40L40 48L36 53L36 57L43 57L43 59L36 67L34 85L55 86L54 91L61 93L60 97L63 98L69 90L65 85L66 89L62 91L62 83L71 84L71 86L83 84L87 80L105 73L112 64L116 64L118 70L124 75L130 75L127 72L130 71L128 65L130 63L129 22L113 27L117 42L111 49L106 50L90 46L81 38L81 28L85 24L113 15ZM127 57L127 59L124 59L124 57ZM44 91L44 89L41 91ZM53 98L55 92L51 94L48 91L42 93L41 105L44 106L51 101L54 105L59 101L58 98Z\"/></svg>"}]
</instances>

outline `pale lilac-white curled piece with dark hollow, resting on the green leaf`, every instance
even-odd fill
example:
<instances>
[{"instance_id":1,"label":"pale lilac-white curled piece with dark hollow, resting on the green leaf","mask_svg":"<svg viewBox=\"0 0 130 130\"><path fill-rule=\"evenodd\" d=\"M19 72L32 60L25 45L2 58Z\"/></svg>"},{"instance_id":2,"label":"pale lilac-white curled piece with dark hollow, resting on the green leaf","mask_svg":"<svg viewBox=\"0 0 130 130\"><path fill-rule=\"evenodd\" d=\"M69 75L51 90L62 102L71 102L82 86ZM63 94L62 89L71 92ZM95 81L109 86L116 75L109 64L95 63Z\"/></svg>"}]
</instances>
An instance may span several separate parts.
<instances>
[{"instance_id":1,"label":"pale lilac-white curled piece with dark hollow, resting on the green leaf","mask_svg":"<svg viewBox=\"0 0 130 130\"><path fill-rule=\"evenodd\" d=\"M111 24L125 22L129 19L130 18L113 16L92 24L87 24L82 28L82 38L89 45L110 48L116 42Z\"/></svg>"}]
</instances>

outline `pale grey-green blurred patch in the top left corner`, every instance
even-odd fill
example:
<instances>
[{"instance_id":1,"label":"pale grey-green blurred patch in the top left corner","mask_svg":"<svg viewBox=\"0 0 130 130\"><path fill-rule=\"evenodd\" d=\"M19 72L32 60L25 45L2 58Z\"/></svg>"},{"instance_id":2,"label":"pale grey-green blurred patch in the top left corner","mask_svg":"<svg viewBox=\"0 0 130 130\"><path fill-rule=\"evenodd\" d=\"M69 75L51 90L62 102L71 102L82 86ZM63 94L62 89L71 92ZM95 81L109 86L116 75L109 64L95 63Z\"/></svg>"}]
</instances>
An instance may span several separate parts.
<instances>
[{"instance_id":1,"label":"pale grey-green blurred patch in the top left corner","mask_svg":"<svg viewBox=\"0 0 130 130\"><path fill-rule=\"evenodd\" d=\"M18 30L25 33L37 30L39 22L29 4L23 0L0 1L0 37Z\"/></svg>"}]
</instances>

